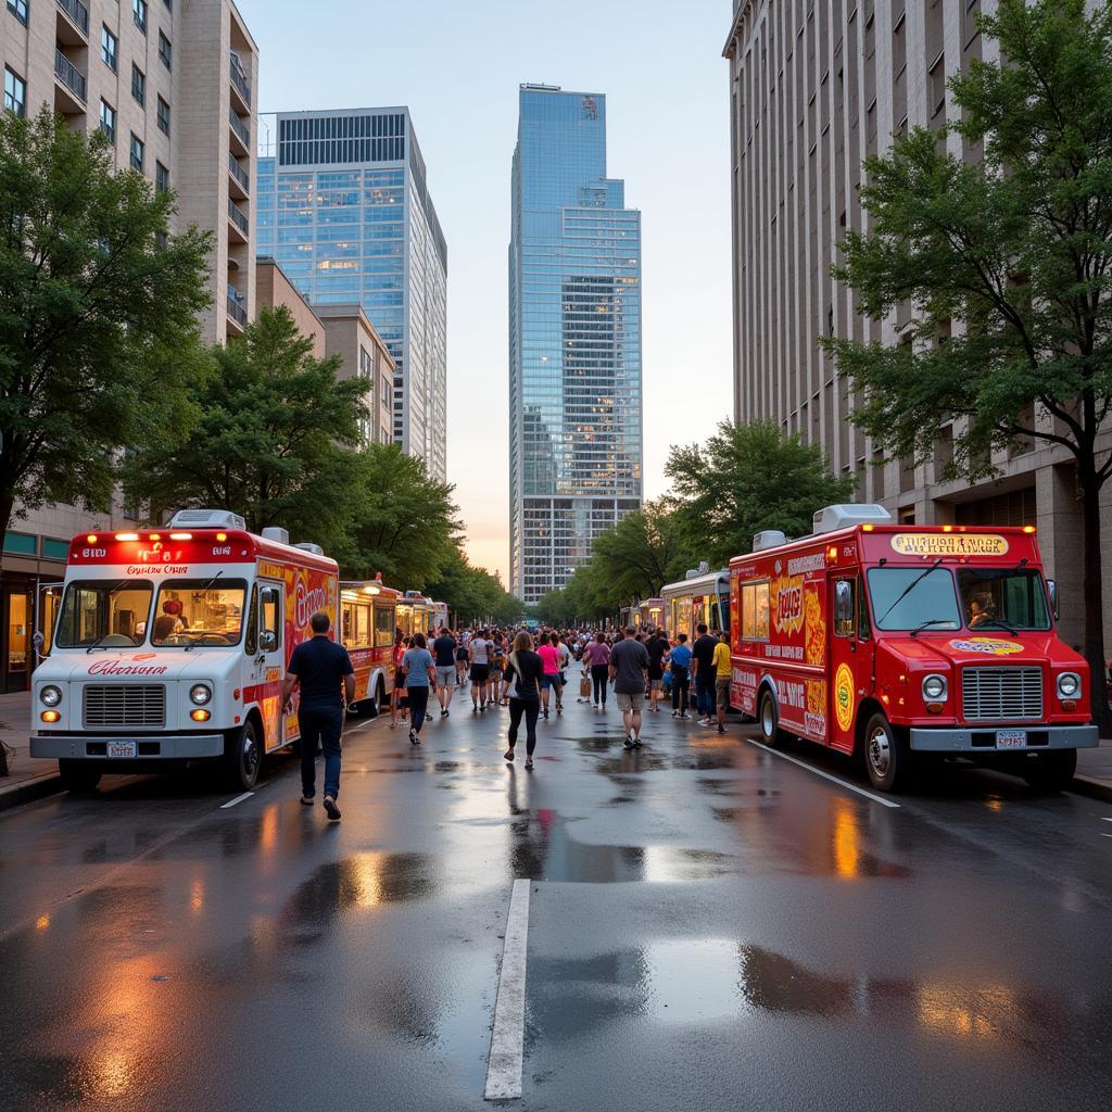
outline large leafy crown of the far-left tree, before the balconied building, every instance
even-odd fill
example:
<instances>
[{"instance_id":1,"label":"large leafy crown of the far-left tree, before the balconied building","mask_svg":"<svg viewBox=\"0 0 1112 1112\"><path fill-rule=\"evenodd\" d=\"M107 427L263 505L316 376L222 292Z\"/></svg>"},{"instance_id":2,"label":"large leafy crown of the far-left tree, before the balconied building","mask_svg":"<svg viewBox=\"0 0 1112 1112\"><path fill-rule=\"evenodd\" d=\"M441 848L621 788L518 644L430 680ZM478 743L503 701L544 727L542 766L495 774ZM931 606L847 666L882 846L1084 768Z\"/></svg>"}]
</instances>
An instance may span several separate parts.
<instances>
[{"instance_id":1,"label":"large leafy crown of the far-left tree, before the balconied building","mask_svg":"<svg viewBox=\"0 0 1112 1112\"><path fill-rule=\"evenodd\" d=\"M172 212L105 136L0 115L0 534L17 504L102 509L118 448L196 419L211 236Z\"/></svg>"}]
</instances>

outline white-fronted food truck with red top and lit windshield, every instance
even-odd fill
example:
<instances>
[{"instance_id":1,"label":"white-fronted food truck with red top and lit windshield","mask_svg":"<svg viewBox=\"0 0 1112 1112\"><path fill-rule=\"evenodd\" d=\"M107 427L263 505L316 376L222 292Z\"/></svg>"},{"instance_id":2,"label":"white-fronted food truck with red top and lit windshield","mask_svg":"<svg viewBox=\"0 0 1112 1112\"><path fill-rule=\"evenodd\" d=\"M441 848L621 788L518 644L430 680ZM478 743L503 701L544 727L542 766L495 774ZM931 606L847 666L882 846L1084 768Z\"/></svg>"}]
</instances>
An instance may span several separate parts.
<instances>
[{"instance_id":1,"label":"white-fronted food truck with red top and lit windshield","mask_svg":"<svg viewBox=\"0 0 1112 1112\"><path fill-rule=\"evenodd\" d=\"M336 562L285 529L247 532L192 509L158 529L82 534L69 547L49 657L33 675L31 756L73 790L106 773L222 766L240 788L297 741L281 705L290 654L324 610Z\"/></svg>"}]
</instances>

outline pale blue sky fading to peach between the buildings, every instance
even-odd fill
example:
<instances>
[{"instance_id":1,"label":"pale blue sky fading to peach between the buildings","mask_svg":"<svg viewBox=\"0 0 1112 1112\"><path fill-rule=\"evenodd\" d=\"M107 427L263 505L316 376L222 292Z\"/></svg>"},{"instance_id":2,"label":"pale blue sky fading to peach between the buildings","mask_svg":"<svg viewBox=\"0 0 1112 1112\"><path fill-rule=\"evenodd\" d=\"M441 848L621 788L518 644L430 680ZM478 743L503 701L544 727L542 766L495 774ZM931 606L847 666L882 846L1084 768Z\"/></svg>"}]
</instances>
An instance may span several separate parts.
<instances>
[{"instance_id":1,"label":"pale blue sky fading to peach between the buildings","mask_svg":"<svg viewBox=\"0 0 1112 1112\"><path fill-rule=\"evenodd\" d=\"M407 105L448 241L448 480L507 579L509 170L523 81L606 93L607 172L642 210L645 496L733 411L731 0L237 0L258 109Z\"/></svg>"}]
</instances>

